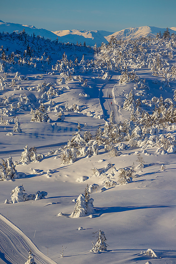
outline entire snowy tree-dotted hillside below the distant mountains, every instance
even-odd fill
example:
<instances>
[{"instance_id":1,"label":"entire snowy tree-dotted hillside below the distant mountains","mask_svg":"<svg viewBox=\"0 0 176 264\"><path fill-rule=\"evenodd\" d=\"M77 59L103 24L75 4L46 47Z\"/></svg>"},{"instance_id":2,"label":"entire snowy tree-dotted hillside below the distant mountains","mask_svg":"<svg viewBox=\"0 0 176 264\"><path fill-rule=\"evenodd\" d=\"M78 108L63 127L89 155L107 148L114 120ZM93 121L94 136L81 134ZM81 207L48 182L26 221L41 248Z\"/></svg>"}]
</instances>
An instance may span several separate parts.
<instances>
[{"instance_id":1,"label":"entire snowy tree-dotted hillside below the distant mountains","mask_svg":"<svg viewBox=\"0 0 176 264\"><path fill-rule=\"evenodd\" d=\"M0 263L176 263L176 31L87 46L4 23Z\"/></svg>"}]
</instances>

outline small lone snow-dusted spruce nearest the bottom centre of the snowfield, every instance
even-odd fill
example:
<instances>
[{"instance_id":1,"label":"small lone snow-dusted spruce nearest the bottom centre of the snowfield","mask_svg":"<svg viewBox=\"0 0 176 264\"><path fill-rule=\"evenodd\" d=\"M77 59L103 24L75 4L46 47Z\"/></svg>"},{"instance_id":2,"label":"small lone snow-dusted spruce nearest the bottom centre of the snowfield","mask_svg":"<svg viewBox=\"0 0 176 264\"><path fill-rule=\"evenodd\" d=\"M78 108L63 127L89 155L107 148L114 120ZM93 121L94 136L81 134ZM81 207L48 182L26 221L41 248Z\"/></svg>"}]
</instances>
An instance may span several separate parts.
<instances>
[{"instance_id":1,"label":"small lone snow-dusted spruce nearest the bottom centre of the snowfield","mask_svg":"<svg viewBox=\"0 0 176 264\"><path fill-rule=\"evenodd\" d=\"M109 246L108 244L106 244L105 241L107 241L106 237L105 237L105 233L103 231L101 231L101 229L97 232L94 232L93 234L97 234L97 240L94 244L93 241L92 242L92 250L90 252L99 252L99 251L106 251L107 250L107 246Z\"/></svg>"}]
</instances>

